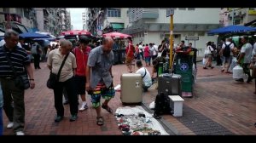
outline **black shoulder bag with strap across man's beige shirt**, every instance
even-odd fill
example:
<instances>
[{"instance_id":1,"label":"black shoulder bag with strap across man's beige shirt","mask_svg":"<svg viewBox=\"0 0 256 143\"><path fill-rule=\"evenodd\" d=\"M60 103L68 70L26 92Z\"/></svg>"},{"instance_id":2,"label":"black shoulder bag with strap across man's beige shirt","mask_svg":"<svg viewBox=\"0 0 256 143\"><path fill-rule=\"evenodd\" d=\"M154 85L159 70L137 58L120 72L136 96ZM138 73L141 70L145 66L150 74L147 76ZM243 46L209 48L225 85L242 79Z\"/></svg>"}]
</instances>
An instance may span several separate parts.
<instances>
[{"instance_id":1,"label":"black shoulder bag with strap across man's beige shirt","mask_svg":"<svg viewBox=\"0 0 256 143\"><path fill-rule=\"evenodd\" d=\"M60 76L61 76L61 69L65 64L65 61L67 60L68 54L65 56L64 60L62 61L61 67L60 67L57 75L53 72L49 72L49 79L47 80L47 83L46 83L47 88L55 89L57 83L59 82Z\"/></svg>"}]
</instances>

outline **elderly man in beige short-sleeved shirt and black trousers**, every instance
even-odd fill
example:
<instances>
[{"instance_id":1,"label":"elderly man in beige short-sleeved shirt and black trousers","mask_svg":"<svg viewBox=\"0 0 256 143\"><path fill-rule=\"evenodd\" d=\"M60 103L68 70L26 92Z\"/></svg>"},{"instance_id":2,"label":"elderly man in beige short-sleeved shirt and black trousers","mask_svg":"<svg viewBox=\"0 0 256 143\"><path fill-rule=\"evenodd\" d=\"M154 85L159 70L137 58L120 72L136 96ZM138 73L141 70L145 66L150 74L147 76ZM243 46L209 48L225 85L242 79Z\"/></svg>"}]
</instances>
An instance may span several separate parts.
<instances>
[{"instance_id":1,"label":"elderly man in beige short-sleeved shirt and black trousers","mask_svg":"<svg viewBox=\"0 0 256 143\"><path fill-rule=\"evenodd\" d=\"M60 122L64 117L64 107L62 105L62 92L63 88L67 90L67 97L69 100L69 107L71 117L70 122L75 121L78 118L78 96L75 92L75 81L74 81L74 69L77 68L76 58L74 54L70 52L72 49L72 43L67 40L61 40L61 47L54 49L49 52L47 59L47 65L52 73L57 73L60 70L61 63L64 65L61 69L61 74L58 83L56 83L54 94L55 94L55 109L57 115L55 122Z\"/></svg>"}]
</instances>

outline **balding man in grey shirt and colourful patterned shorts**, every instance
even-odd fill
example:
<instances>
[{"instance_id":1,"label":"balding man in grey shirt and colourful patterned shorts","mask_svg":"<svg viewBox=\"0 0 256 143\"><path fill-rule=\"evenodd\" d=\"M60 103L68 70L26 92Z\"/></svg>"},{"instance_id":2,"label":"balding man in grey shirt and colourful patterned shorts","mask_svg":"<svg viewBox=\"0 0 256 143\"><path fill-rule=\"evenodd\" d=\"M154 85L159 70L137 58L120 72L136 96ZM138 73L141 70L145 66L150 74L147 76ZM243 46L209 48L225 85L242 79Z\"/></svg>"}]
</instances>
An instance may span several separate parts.
<instances>
[{"instance_id":1,"label":"balding man in grey shirt and colourful patterned shorts","mask_svg":"<svg viewBox=\"0 0 256 143\"><path fill-rule=\"evenodd\" d=\"M108 106L109 100L113 98L115 91L113 89L113 39L106 37L102 41L103 45L92 49L86 67L86 84L85 88L91 95L92 106L96 108L96 123L103 125L103 117L101 112L101 96L105 99L102 108L112 113L112 109Z\"/></svg>"}]
</instances>

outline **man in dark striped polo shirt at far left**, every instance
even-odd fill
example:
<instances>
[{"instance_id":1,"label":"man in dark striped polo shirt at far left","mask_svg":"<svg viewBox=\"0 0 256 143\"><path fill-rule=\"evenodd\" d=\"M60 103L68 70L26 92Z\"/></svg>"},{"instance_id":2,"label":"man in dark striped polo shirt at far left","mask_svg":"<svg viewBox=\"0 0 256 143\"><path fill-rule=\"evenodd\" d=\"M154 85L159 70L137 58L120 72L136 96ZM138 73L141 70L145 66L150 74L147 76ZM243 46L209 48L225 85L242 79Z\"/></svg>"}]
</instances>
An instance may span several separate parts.
<instances>
[{"instance_id":1,"label":"man in dark striped polo shirt at far left","mask_svg":"<svg viewBox=\"0 0 256 143\"><path fill-rule=\"evenodd\" d=\"M24 89L15 86L15 74L9 65L6 56L9 56L16 74L28 74L30 88L35 87L32 66L26 54L26 50L17 46L19 41L18 33L8 30L4 34L5 44L0 47L0 81L3 89L3 110L9 118L7 128L14 128L15 134L24 135L25 105ZM12 106L14 102L14 106Z\"/></svg>"}]
</instances>

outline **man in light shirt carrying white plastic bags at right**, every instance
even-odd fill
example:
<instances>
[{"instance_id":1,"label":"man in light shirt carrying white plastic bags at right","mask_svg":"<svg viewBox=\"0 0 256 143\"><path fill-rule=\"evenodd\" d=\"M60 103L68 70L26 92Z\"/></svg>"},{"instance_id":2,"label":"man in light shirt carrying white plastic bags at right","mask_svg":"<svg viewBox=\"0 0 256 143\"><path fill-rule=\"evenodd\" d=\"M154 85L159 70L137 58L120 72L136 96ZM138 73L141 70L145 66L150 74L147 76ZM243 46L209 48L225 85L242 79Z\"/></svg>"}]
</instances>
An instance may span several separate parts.
<instances>
[{"instance_id":1,"label":"man in light shirt carrying white plastic bags at right","mask_svg":"<svg viewBox=\"0 0 256 143\"><path fill-rule=\"evenodd\" d=\"M253 52L253 46L251 43L248 43L248 37L241 37L241 54L237 60L238 64L241 64L243 72L248 75L247 83L252 82L253 78L251 77L249 66L251 63L251 56ZM243 82L243 78L237 79L237 82Z\"/></svg>"}]
</instances>

